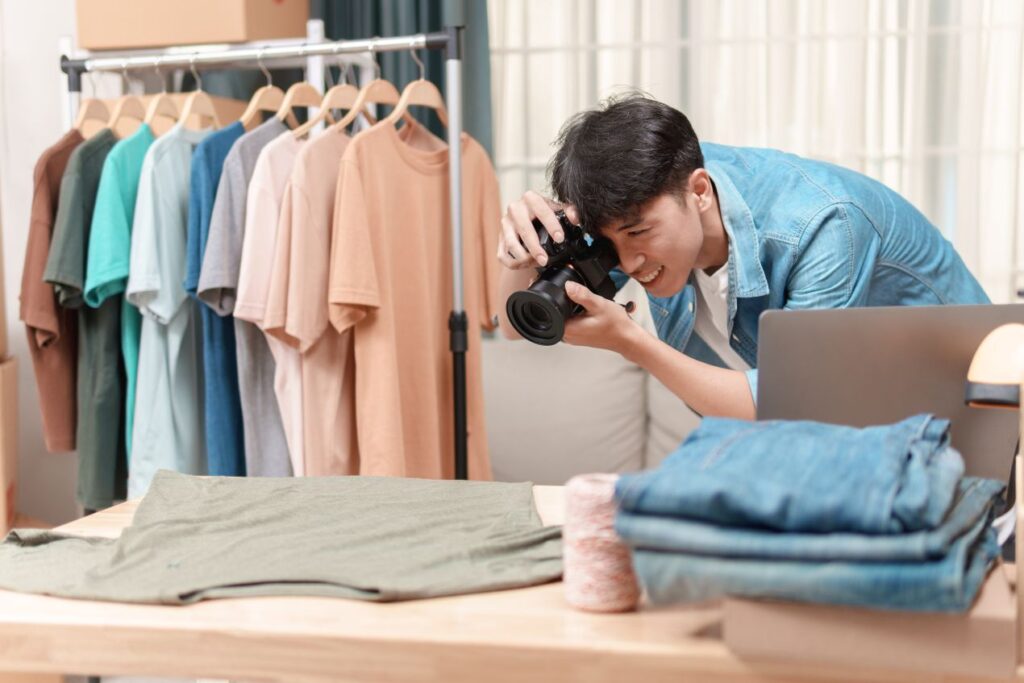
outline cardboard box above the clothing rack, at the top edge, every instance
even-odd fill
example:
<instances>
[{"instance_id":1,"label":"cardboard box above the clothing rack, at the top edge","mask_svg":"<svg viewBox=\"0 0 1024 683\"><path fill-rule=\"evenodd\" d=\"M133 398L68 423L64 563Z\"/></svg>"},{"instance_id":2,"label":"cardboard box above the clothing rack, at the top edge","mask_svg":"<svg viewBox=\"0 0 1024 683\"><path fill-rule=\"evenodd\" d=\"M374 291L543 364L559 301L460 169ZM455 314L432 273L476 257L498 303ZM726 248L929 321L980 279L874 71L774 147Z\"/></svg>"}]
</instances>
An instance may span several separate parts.
<instances>
[{"instance_id":1,"label":"cardboard box above the clothing rack, at the top edge","mask_svg":"<svg viewBox=\"0 0 1024 683\"><path fill-rule=\"evenodd\" d=\"M78 46L116 50L302 38L308 0L77 0Z\"/></svg>"}]
</instances>

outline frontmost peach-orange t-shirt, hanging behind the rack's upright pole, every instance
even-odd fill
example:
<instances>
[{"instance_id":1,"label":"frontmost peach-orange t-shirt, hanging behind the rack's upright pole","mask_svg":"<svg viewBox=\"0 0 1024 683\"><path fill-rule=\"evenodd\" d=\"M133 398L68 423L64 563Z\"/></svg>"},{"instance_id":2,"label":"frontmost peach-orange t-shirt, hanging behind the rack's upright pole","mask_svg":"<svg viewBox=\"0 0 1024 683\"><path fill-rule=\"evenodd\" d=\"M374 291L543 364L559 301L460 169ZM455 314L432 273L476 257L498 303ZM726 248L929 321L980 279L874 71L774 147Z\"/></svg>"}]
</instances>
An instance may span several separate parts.
<instances>
[{"instance_id":1,"label":"frontmost peach-orange t-shirt, hanging behind the rack's upright pole","mask_svg":"<svg viewBox=\"0 0 1024 683\"><path fill-rule=\"evenodd\" d=\"M469 476L490 478L480 337L500 305L501 207L486 153L463 135L464 302ZM330 318L351 329L361 474L451 477L455 469L447 150L379 124L349 143L334 213Z\"/></svg>"}]
</instances>

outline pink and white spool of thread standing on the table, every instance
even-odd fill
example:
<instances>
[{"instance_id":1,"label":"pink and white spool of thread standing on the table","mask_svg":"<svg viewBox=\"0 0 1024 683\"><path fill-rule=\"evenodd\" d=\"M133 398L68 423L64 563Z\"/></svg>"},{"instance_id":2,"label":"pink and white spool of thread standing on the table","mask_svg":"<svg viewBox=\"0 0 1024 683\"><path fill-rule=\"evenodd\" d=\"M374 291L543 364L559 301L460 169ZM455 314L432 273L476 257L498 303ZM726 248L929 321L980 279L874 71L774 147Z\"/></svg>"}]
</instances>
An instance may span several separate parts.
<instances>
[{"instance_id":1,"label":"pink and white spool of thread standing on the table","mask_svg":"<svg viewBox=\"0 0 1024 683\"><path fill-rule=\"evenodd\" d=\"M636 609L640 587L630 550L615 535L614 474L583 474L565 485L562 565L565 599L577 609Z\"/></svg>"}]
</instances>

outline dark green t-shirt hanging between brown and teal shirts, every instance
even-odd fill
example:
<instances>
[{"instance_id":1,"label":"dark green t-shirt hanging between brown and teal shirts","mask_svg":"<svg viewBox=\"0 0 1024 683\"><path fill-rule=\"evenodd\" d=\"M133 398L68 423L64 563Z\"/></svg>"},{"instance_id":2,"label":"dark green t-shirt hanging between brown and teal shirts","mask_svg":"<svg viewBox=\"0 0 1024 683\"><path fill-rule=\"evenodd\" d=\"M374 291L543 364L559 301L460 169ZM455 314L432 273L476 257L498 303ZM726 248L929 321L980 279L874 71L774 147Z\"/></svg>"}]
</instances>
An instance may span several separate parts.
<instances>
[{"instance_id":1,"label":"dark green t-shirt hanging between brown and teal shirts","mask_svg":"<svg viewBox=\"0 0 1024 683\"><path fill-rule=\"evenodd\" d=\"M124 429L124 368L121 364L121 302L83 306L86 253L103 162L117 139L103 129L80 144L60 179L57 217L43 280L57 302L79 311L78 501L87 510L123 500L127 483Z\"/></svg>"}]
</instances>

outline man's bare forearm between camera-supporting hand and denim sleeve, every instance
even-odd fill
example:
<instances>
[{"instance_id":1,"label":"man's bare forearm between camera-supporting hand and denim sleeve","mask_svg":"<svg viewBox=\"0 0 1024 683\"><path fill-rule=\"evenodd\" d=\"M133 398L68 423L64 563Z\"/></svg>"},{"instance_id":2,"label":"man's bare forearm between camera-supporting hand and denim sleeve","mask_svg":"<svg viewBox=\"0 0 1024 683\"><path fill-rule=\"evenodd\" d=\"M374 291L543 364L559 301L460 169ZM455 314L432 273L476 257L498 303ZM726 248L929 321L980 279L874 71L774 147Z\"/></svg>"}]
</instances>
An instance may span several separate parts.
<instances>
[{"instance_id":1,"label":"man's bare forearm between camera-supporting hand and denim sleeve","mask_svg":"<svg viewBox=\"0 0 1024 683\"><path fill-rule=\"evenodd\" d=\"M637 328L623 355L656 377L700 415L755 418L751 387L741 372L691 358L641 328Z\"/></svg>"}]
</instances>

